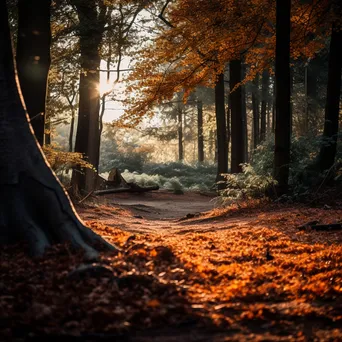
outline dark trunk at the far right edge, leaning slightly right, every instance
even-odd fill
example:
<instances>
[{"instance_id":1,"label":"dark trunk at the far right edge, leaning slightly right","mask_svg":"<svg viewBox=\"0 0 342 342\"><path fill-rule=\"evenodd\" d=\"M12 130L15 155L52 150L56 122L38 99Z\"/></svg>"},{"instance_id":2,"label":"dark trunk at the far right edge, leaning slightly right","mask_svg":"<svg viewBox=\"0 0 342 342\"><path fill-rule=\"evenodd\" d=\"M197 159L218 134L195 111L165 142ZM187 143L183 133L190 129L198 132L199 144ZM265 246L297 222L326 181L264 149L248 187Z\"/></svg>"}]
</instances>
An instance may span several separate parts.
<instances>
[{"instance_id":1,"label":"dark trunk at the far right edge, leaning slightly right","mask_svg":"<svg viewBox=\"0 0 342 342\"><path fill-rule=\"evenodd\" d=\"M336 18L342 16L342 6L336 3ZM339 20L339 19L338 19ZM325 138L319 153L321 171L329 170L335 162L338 133L339 104L341 92L342 68L342 31L338 23L334 23L331 32L328 86L325 105L325 121L323 137Z\"/></svg>"}]
</instances>

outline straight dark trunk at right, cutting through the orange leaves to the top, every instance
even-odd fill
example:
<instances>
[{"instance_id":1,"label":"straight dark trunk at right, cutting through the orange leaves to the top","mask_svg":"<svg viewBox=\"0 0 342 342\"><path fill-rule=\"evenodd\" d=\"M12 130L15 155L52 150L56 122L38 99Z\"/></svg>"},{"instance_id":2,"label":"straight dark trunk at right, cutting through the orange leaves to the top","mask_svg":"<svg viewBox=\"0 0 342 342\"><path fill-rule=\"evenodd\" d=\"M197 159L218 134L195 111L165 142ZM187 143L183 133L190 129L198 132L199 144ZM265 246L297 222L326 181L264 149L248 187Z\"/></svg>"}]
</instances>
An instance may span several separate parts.
<instances>
[{"instance_id":1,"label":"straight dark trunk at right, cutting through the orange leaves to the top","mask_svg":"<svg viewBox=\"0 0 342 342\"><path fill-rule=\"evenodd\" d=\"M274 177L278 182L278 195L282 195L288 190L291 147L291 0L277 0L276 8L276 126Z\"/></svg>"}]
</instances>

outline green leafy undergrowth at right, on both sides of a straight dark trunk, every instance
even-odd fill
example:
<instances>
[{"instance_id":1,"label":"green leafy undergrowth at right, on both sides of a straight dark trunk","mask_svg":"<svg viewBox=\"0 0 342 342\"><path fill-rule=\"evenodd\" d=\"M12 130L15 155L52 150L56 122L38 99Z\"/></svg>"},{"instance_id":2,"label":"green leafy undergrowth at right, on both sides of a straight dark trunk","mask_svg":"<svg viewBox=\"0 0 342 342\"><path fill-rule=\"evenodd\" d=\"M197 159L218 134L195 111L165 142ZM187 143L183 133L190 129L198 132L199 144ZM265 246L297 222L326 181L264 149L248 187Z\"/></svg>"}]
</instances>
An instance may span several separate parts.
<instances>
[{"instance_id":1,"label":"green leafy undergrowth at right, on both sides of a straight dark trunk","mask_svg":"<svg viewBox=\"0 0 342 342\"><path fill-rule=\"evenodd\" d=\"M328 178L329 170L321 173L317 164L318 152L322 144L331 141L322 137L292 138L290 163L290 194L287 199L300 200L312 191L317 191ZM276 185L272 178L274 158L274 136L270 135L266 141L253 152L251 164L243 165L240 174L224 175L227 189L221 192L225 202L240 201L250 198L260 198L274 194L272 188ZM335 181L340 179L342 165L341 144L337 145L337 157L334 174Z\"/></svg>"}]
</instances>

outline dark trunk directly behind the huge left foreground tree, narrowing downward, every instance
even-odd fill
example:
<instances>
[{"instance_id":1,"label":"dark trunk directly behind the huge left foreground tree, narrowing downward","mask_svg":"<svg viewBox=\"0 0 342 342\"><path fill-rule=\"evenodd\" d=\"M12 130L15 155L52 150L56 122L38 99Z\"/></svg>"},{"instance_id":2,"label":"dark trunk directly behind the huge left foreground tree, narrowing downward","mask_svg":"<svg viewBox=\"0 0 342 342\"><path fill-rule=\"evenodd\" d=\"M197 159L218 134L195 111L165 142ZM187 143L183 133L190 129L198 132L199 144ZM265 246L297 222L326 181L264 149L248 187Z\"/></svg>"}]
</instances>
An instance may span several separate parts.
<instances>
[{"instance_id":1,"label":"dark trunk directly behind the huge left foreground tree, narrowing downward","mask_svg":"<svg viewBox=\"0 0 342 342\"><path fill-rule=\"evenodd\" d=\"M31 126L44 144L45 97L50 68L51 0L19 0L17 68Z\"/></svg>"}]
</instances>

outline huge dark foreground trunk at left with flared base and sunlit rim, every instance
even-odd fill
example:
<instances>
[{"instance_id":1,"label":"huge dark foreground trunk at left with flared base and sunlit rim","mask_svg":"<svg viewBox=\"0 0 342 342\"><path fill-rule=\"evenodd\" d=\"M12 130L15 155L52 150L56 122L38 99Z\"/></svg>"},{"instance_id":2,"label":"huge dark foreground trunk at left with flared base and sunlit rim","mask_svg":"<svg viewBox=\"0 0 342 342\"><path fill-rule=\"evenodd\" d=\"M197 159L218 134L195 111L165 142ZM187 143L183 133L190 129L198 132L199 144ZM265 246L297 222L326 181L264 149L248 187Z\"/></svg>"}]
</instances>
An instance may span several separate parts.
<instances>
[{"instance_id":1,"label":"huge dark foreground trunk at left with flared base and sunlit rim","mask_svg":"<svg viewBox=\"0 0 342 342\"><path fill-rule=\"evenodd\" d=\"M47 165L18 92L6 2L0 1L0 243L25 242L32 255L69 242L88 258L113 250L85 227Z\"/></svg>"}]
</instances>

